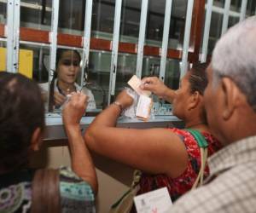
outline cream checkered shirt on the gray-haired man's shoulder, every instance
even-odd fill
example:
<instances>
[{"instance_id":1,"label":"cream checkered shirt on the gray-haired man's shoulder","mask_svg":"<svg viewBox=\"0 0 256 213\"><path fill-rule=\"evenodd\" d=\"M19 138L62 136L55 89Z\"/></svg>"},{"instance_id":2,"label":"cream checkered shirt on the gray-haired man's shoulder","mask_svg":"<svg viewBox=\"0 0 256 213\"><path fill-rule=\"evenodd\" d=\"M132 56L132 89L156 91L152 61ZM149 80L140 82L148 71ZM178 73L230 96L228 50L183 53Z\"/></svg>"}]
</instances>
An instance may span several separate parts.
<instances>
[{"instance_id":1,"label":"cream checkered shirt on the gray-haired man's shoulder","mask_svg":"<svg viewBox=\"0 0 256 213\"><path fill-rule=\"evenodd\" d=\"M256 209L256 164L239 164L207 185L185 194L170 212L253 212Z\"/></svg>"}]
</instances>

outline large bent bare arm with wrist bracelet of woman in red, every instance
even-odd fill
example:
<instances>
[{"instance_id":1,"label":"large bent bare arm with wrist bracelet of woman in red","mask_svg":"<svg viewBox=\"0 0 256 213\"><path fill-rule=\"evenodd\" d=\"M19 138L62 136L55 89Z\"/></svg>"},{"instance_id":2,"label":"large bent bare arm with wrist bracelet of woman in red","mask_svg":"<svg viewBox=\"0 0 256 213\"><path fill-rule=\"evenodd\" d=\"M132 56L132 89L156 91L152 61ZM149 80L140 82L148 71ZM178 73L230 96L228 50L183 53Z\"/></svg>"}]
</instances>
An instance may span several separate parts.
<instances>
[{"instance_id":1,"label":"large bent bare arm with wrist bracelet of woman in red","mask_svg":"<svg viewBox=\"0 0 256 213\"><path fill-rule=\"evenodd\" d=\"M103 110L85 131L87 147L96 153L153 174L176 177L187 167L188 155L180 137L166 129L116 128L121 109L132 104L125 91ZM122 107L119 107L119 104Z\"/></svg>"}]
</instances>

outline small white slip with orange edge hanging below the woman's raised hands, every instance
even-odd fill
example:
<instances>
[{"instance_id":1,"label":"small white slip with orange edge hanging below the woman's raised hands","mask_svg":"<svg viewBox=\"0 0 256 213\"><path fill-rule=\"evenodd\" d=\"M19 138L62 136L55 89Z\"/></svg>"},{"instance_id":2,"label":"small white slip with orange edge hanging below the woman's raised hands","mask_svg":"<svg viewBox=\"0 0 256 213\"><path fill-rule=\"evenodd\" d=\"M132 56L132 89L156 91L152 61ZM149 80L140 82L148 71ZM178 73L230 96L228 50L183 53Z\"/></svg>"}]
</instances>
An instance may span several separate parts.
<instances>
[{"instance_id":1,"label":"small white slip with orange edge hanging below the woman's raised hands","mask_svg":"<svg viewBox=\"0 0 256 213\"><path fill-rule=\"evenodd\" d=\"M136 116L138 118L142 118L143 120L148 120L152 106L152 99L148 96L141 95L137 103Z\"/></svg>"}]
</instances>

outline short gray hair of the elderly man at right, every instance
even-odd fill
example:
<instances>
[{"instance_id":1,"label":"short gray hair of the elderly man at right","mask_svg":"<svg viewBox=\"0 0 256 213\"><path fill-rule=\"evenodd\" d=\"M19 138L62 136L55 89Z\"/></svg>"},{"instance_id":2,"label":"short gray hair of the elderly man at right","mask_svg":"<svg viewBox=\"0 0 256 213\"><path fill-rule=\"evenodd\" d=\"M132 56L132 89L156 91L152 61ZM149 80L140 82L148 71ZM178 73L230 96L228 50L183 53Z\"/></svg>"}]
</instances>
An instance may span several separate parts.
<instances>
[{"instance_id":1,"label":"short gray hair of the elderly man at right","mask_svg":"<svg viewBox=\"0 0 256 213\"><path fill-rule=\"evenodd\" d=\"M256 16L230 28L212 54L213 84L231 78L256 111Z\"/></svg>"}]
</instances>

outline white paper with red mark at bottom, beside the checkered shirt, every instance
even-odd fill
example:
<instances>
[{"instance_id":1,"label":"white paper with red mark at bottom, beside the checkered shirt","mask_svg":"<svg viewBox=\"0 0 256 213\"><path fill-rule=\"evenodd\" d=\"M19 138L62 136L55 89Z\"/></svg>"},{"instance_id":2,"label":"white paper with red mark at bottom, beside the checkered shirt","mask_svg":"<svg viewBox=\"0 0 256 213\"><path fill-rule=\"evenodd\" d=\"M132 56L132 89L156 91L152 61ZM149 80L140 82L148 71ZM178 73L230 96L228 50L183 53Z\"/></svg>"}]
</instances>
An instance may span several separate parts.
<instances>
[{"instance_id":1,"label":"white paper with red mark at bottom, beside the checkered shirt","mask_svg":"<svg viewBox=\"0 0 256 213\"><path fill-rule=\"evenodd\" d=\"M167 187L138 195L134 202L137 213L167 213L172 206Z\"/></svg>"}]
</instances>

